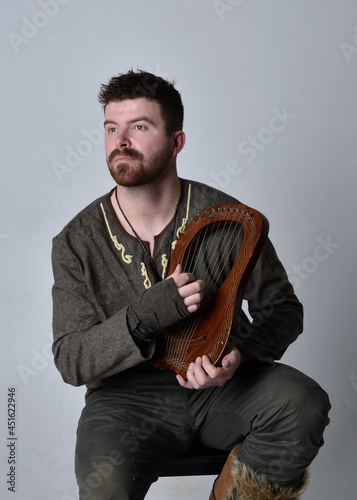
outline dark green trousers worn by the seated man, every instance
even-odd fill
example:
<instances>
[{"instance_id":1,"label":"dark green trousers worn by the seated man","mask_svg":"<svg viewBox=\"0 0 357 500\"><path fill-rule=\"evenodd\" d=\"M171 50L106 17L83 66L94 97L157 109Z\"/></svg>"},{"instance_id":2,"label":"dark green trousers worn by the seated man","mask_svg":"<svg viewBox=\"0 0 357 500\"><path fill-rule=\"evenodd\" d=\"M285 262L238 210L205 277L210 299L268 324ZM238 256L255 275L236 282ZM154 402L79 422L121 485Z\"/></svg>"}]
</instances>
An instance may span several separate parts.
<instances>
[{"instance_id":1,"label":"dark green trousers worn by the seated man","mask_svg":"<svg viewBox=\"0 0 357 500\"><path fill-rule=\"evenodd\" d=\"M243 366L242 366L243 368ZM330 404L286 365L239 369L223 387L133 385L87 393L77 432L80 500L141 500L168 460L198 440L270 481L298 478L323 444Z\"/></svg>"}]
</instances>

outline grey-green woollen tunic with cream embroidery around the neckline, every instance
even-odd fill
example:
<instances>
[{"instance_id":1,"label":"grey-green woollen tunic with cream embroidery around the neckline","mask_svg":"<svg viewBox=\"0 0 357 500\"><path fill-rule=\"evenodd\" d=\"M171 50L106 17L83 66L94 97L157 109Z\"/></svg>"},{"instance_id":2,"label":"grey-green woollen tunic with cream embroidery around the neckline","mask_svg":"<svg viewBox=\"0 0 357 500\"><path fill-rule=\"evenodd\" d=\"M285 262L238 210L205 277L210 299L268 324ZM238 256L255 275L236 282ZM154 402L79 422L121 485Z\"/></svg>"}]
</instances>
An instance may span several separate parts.
<instances>
[{"instance_id":1,"label":"grey-green woollen tunic with cream embroidery around the neckline","mask_svg":"<svg viewBox=\"0 0 357 500\"><path fill-rule=\"evenodd\" d=\"M173 280L163 279L170 243L202 210L239 203L204 184L181 182L177 215L155 237L159 276L139 241L120 225L111 193L82 210L53 239L53 353L69 384L96 389L177 383L174 372L150 362L155 331L187 316ZM269 240L244 299L253 322L241 322L236 345L252 358L273 364L301 333L302 306Z\"/></svg>"}]
</instances>

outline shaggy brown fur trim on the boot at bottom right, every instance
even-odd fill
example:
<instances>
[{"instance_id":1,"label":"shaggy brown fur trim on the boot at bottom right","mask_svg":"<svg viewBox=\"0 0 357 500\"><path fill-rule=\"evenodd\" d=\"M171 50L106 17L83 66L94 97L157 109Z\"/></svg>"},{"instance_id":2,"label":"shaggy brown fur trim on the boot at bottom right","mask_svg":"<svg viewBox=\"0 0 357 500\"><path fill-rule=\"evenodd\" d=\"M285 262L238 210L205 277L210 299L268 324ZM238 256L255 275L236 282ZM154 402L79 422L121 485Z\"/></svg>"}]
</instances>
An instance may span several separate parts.
<instances>
[{"instance_id":1,"label":"shaggy brown fur trim on the boot at bottom right","mask_svg":"<svg viewBox=\"0 0 357 500\"><path fill-rule=\"evenodd\" d=\"M308 473L305 471L302 477L291 486L270 483L264 474L254 472L250 467L239 462L237 457L234 457L233 469L235 484L227 492L224 500L298 500L308 482Z\"/></svg>"}]
</instances>

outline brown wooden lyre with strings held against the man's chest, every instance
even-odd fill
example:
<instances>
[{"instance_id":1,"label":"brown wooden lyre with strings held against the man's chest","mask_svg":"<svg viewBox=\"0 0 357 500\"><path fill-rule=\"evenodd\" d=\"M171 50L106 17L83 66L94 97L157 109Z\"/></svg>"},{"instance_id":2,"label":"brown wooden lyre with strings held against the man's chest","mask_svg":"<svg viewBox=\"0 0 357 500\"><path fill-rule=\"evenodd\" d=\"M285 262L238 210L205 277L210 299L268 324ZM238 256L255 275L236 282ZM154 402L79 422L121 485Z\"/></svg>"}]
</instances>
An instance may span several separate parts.
<instances>
[{"instance_id":1,"label":"brown wooden lyre with strings held against the man's chest","mask_svg":"<svg viewBox=\"0 0 357 500\"><path fill-rule=\"evenodd\" d=\"M204 298L187 320L157 332L156 367L185 377L189 364L204 354L219 365L234 343L243 292L268 229L266 217L245 205L212 207L190 221L176 243L168 276L181 263L184 271L205 281ZM196 271L196 264L203 262L205 277Z\"/></svg>"}]
</instances>

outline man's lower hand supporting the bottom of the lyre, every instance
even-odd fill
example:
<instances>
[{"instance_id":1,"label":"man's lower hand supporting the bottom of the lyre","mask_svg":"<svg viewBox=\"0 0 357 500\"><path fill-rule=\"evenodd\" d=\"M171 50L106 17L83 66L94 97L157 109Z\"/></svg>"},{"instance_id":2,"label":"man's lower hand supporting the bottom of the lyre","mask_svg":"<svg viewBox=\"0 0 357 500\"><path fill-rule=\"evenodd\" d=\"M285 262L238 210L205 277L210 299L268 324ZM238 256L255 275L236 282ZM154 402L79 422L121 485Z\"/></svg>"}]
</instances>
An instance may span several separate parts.
<instances>
[{"instance_id":1,"label":"man's lower hand supporting the bottom of the lyre","mask_svg":"<svg viewBox=\"0 0 357 500\"><path fill-rule=\"evenodd\" d=\"M234 372L242 362L242 356L236 347L222 359L222 367L214 366L207 356L196 359L187 370L185 380L177 375L178 383L186 389L207 389L222 386L233 377Z\"/></svg>"}]
</instances>

